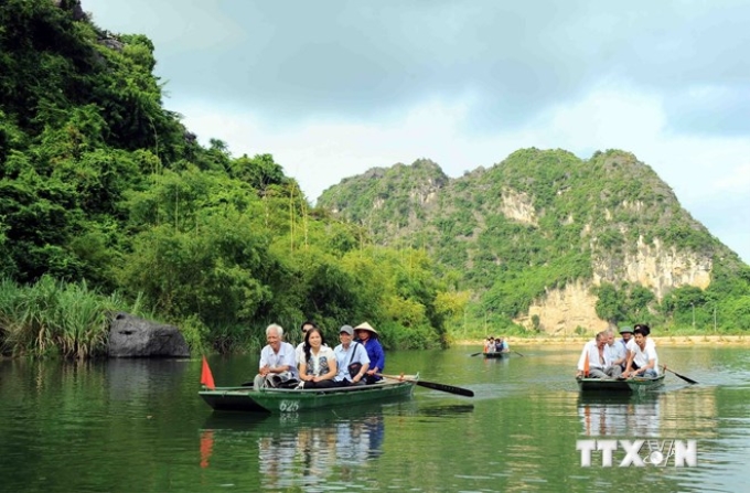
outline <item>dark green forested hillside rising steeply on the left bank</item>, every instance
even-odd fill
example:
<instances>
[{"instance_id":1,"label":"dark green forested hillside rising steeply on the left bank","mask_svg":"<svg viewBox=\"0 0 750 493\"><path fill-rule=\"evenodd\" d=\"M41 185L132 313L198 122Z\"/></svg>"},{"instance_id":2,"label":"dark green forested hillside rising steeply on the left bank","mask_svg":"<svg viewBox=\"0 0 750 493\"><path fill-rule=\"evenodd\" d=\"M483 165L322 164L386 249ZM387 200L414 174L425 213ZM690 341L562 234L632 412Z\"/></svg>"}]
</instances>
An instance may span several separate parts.
<instances>
[{"instance_id":1,"label":"dark green forested hillside rising steeply on the left bank","mask_svg":"<svg viewBox=\"0 0 750 493\"><path fill-rule=\"evenodd\" d=\"M307 319L446 344L463 306L430 258L311 208L270 154L202 147L164 108L153 50L77 1L0 3L2 352L99 354L103 310L175 323L193 349L257 349L267 323Z\"/></svg>"}]
</instances>

